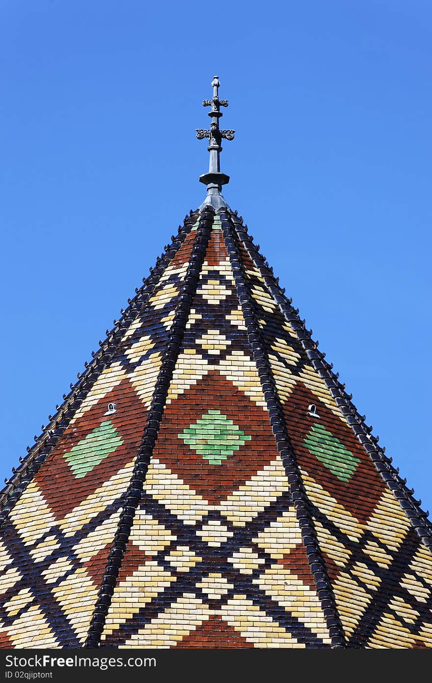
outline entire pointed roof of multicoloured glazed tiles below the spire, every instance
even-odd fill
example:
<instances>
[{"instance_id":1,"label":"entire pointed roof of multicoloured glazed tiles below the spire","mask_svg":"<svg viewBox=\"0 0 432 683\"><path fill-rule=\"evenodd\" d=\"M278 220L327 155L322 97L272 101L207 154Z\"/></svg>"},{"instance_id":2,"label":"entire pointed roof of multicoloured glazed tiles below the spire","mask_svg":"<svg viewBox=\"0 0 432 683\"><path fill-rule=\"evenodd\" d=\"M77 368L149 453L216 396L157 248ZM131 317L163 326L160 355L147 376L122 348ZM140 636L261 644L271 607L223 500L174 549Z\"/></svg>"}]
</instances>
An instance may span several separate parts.
<instances>
[{"instance_id":1,"label":"entire pointed roof of multicoloured glazed tiles below the spire","mask_svg":"<svg viewBox=\"0 0 432 683\"><path fill-rule=\"evenodd\" d=\"M432 646L427 514L218 204L3 491L3 647Z\"/></svg>"}]
</instances>

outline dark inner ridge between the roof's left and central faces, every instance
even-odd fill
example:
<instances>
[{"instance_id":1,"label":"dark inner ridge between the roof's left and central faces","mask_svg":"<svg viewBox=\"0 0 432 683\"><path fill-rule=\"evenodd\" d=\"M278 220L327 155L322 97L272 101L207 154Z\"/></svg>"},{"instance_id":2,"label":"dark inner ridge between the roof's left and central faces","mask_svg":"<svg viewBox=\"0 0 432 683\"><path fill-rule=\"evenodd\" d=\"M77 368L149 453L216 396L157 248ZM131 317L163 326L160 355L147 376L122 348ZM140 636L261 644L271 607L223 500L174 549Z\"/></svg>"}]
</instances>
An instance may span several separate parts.
<instances>
[{"instance_id":1,"label":"dark inner ridge between the roof's left and central faces","mask_svg":"<svg viewBox=\"0 0 432 683\"><path fill-rule=\"evenodd\" d=\"M109 558L106 562L98 599L96 600L89 630L87 632L87 640L84 645L86 648L100 647L100 639L102 637L106 615L108 614L111 605L111 598L113 597L121 561L124 557L130 537L136 508L141 502L141 493L143 491L150 458L152 457L154 445L158 438L160 423L164 413L164 405L167 400L175 363L182 346L184 330L192 305L192 298L195 296L197 290L199 274L205 259L205 251L212 229L213 216L214 213L211 208L201 214L197 236L194 240L192 253L190 255L182 286L182 293L179 296L179 303L175 310L173 324L169 332L169 341L167 342L164 351L163 360L160 365L158 378L152 395L152 402L147 414L143 438L136 456L128 490L125 494L124 507L119 518L113 545L111 546Z\"/></svg>"}]
</instances>

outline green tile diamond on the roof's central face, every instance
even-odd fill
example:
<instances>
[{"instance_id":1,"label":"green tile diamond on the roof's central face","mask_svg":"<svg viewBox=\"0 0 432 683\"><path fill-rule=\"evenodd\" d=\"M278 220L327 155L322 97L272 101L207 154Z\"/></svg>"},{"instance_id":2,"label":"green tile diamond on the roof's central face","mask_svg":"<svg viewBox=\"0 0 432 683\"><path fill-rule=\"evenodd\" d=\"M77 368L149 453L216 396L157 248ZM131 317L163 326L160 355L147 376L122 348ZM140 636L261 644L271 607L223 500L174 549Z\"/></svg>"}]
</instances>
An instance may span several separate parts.
<instances>
[{"instance_id":1,"label":"green tile diamond on the roof's central face","mask_svg":"<svg viewBox=\"0 0 432 683\"><path fill-rule=\"evenodd\" d=\"M220 410L209 410L178 437L214 465L220 465L251 439Z\"/></svg>"}]
</instances>

